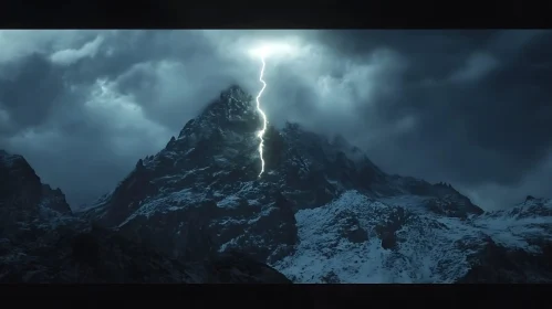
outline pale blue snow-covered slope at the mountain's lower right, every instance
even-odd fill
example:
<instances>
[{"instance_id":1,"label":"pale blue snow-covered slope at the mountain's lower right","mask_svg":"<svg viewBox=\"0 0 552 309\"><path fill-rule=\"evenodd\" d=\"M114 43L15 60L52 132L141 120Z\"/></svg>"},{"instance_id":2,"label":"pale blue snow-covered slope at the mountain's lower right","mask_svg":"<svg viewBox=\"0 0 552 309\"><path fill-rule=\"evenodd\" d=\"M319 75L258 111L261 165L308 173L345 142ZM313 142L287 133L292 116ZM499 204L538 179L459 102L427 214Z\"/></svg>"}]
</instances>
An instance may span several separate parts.
<instances>
[{"instance_id":1,"label":"pale blue snow-covered slope at the mountain's lower right","mask_svg":"<svg viewBox=\"0 0 552 309\"><path fill-rule=\"evenodd\" d=\"M532 235L552 236L550 215L517 219L499 214L462 221L423 214L416 206L418 196L393 201L395 205L388 205L347 191L322 207L300 210L295 215L300 237L296 252L274 267L295 283L446 284L468 273L468 257L481 249L488 237L510 248L538 251L527 239ZM550 207L551 203L544 205ZM395 214L402 210L403 220L396 220ZM376 232L385 224L396 225L398 241L393 249L382 246ZM343 236L354 230L366 233L366 239Z\"/></svg>"}]
</instances>

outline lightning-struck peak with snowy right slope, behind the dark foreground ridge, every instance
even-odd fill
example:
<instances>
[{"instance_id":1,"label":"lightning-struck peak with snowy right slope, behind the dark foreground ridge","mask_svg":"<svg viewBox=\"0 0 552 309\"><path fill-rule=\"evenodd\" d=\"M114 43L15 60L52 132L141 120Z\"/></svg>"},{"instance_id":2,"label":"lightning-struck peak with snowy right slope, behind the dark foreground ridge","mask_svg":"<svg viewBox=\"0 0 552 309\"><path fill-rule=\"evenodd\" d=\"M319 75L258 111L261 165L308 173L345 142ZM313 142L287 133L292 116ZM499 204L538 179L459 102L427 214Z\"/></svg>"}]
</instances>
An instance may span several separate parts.
<instances>
[{"instance_id":1,"label":"lightning-struck peak with snowy right slope, behind the dark foreground ridge","mask_svg":"<svg viewBox=\"0 0 552 309\"><path fill-rule=\"evenodd\" d=\"M552 281L552 203L485 213L450 184L389 175L342 137L269 127L231 86L82 211L196 263L239 251L295 283Z\"/></svg>"}]
</instances>

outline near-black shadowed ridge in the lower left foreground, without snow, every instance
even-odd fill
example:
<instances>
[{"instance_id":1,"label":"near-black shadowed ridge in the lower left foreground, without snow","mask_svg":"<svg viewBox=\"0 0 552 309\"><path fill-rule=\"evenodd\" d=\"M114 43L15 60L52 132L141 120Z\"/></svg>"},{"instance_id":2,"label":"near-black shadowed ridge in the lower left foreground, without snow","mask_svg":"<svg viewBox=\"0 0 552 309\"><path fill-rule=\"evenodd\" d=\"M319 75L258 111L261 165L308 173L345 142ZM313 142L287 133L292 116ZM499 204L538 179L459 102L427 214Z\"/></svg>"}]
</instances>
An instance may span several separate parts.
<instances>
[{"instance_id":1,"label":"near-black shadowed ridge in the lower left foreground, without snow","mask_svg":"<svg viewBox=\"0 0 552 309\"><path fill-rule=\"evenodd\" d=\"M238 252L196 263L74 216L61 190L0 150L0 283L290 283Z\"/></svg>"}]
</instances>

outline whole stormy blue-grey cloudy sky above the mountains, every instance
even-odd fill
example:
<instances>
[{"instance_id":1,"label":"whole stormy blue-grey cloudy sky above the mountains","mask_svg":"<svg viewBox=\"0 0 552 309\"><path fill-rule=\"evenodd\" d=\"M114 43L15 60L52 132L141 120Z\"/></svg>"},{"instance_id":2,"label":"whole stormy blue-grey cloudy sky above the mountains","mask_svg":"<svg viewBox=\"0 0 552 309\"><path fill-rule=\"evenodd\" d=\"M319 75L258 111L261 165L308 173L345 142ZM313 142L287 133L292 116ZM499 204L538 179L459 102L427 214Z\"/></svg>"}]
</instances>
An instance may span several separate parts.
<instances>
[{"instance_id":1,"label":"whole stormy blue-grey cloudy sky above the mountains","mask_svg":"<svg viewBox=\"0 0 552 309\"><path fill-rule=\"evenodd\" d=\"M72 205L112 190L230 84L280 126L342 134L486 210L552 198L552 32L0 31L0 149Z\"/></svg>"}]
</instances>

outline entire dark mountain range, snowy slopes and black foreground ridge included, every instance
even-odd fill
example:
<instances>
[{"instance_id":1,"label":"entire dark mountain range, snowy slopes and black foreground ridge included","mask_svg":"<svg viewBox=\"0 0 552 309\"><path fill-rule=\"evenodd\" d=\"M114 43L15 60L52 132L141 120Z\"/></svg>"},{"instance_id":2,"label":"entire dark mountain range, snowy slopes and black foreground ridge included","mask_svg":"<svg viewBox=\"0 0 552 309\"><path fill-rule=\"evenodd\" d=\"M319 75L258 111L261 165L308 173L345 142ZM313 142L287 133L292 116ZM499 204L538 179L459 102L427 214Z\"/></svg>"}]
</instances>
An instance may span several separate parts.
<instances>
[{"instance_id":1,"label":"entire dark mountain range, snowy slopes and black foreground ridge included","mask_svg":"<svg viewBox=\"0 0 552 309\"><path fill-rule=\"evenodd\" d=\"M74 212L0 152L0 281L552 281L551 200L485 212L296 124L269 126L259 177L260 127L230 86Z\"/></svg>"}]
</instances>

